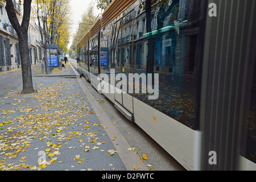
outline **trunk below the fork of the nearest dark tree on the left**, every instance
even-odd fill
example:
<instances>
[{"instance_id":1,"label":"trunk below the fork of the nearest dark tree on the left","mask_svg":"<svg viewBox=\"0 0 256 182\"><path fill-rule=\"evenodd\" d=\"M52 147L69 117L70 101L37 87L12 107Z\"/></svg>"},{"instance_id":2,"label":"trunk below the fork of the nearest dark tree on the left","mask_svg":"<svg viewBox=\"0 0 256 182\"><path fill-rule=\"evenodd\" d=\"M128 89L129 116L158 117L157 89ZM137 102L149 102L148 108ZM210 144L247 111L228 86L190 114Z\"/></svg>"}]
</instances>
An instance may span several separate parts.
<instances>
[{"instance_id":1,"label":"trunk below the fork of the nearest dark tree on the left","mask_svg":"<svg viewBox=\"0 0 256 182\"><path fill-rule=\"evenodd\" d=\"M19 36L20 60L22 65L23 94L35 92L32 81L30 54L27 34Z\"/></svg>"}]
</instances>

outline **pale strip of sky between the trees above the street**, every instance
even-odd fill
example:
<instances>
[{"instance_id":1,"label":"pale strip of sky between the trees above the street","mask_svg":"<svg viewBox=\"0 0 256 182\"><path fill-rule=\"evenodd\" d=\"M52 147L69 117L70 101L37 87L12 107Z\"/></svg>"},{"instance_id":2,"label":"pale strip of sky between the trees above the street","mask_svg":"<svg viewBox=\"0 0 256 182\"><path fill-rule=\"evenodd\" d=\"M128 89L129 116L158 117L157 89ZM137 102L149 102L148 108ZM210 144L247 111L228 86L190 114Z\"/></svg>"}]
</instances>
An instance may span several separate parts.
<instances>
[{"instance_id":1,"label":"pale strip of sky between the trees above the street","mask_svg":"<svg viewBox=\"0 0 256 182\"><path fill-rule=\"evenodd\" d=\"M69 44L68 44L68 48L71 47L71 44L72 44L72 40L73 40L73 35L75 35L77 29L79 28L79 21L81 21L81 16L82 16L82 13L84 13L84 11L86 11L88 5L90 2L95 2L95 5L97 5L96 3L96 0L71 0L71 8L72 8L72 13L73 13L73 19L72 19L72 36L71 36L71 39L69 40ZM96 9L96 16L98 14L101 13L100 10L97 10L97 7L95 8Z\"/></svg>"}]
</instances>

